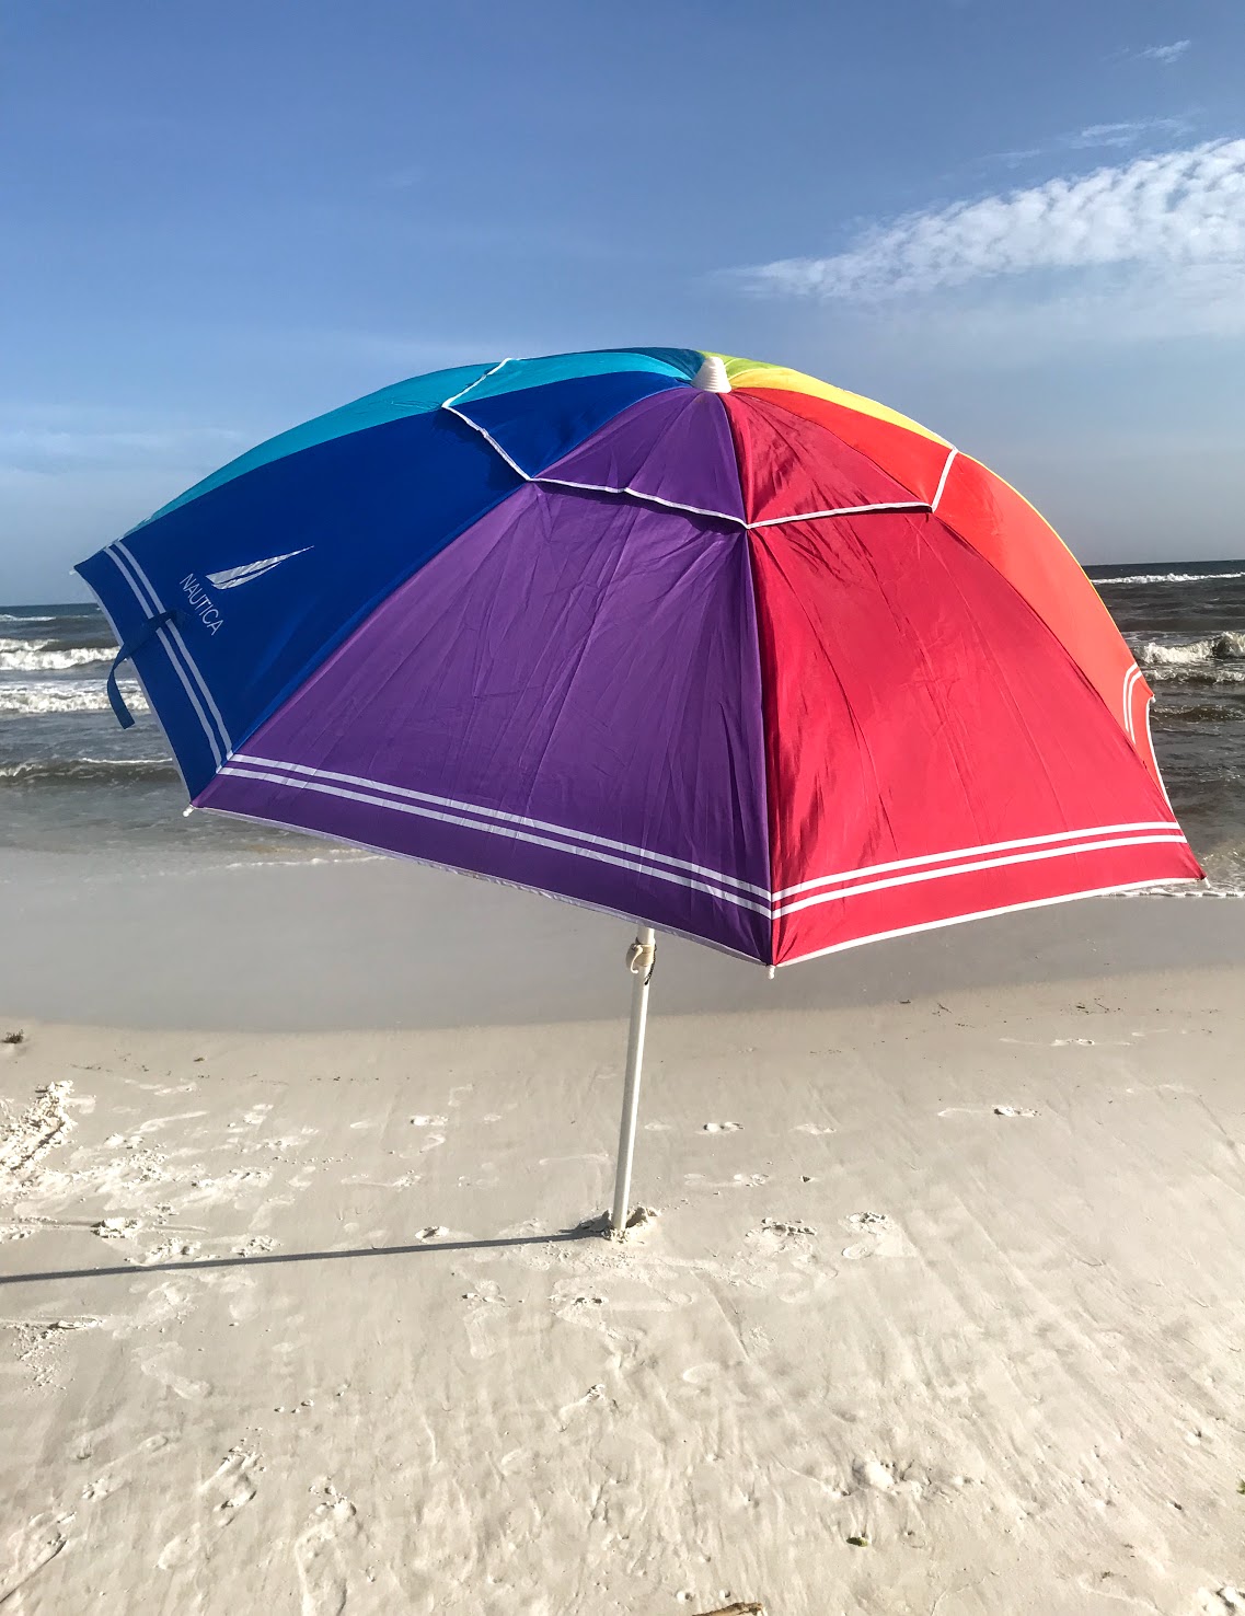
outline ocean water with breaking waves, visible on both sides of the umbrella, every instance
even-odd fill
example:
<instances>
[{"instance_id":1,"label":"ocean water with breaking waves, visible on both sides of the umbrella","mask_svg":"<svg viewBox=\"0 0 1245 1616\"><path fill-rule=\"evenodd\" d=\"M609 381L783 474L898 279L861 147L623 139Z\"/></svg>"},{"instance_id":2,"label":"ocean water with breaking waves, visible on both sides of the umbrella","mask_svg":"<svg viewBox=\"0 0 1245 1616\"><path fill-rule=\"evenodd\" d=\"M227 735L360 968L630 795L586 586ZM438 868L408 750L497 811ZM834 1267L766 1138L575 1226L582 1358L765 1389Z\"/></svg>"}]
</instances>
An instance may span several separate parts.
<instances>
[{"instance_id":1,"label":"ocean water with breaking waves, visible on both sides of the umbrella","mask_svg":"<svg viewBox=\"0 0 1245 1616\"><path fill-rule=\"evenodd\" d=\"M1245 561L1088 572L1154 690L1164 782L1211 889L1245 895ZM0 848L124 861L361 856L275 827L184 818L176 764L137 685L121 679L133 729L108 708L113 651L94 604L0 608Z\"/></svg>"}]
</instances>

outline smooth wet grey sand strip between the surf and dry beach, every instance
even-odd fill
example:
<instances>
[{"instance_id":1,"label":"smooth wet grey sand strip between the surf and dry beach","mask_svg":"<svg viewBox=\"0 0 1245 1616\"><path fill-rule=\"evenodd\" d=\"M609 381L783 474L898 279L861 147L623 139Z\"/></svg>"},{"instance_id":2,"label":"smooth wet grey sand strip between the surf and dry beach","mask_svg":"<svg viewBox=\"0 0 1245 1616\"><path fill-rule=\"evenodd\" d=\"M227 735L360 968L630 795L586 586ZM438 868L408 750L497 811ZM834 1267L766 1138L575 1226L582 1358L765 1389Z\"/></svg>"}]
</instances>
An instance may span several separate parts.
<instances>
[{"instance_id":1,"label":"smooth wet grey sand strip between the surf and dry beach","mask_svg":"<svg viewBox=\"0 0 1245 1616\"><path fill-rule=\"evenodd\" d=\"M624 921L398 860L163 871L0 858L0 1013L333 1031L626 1013ZM972 987L1245 965L1245 903L1083 898L779 970L660 937L653 1016L894 1004Z\"/></svg>"}]
</instances>

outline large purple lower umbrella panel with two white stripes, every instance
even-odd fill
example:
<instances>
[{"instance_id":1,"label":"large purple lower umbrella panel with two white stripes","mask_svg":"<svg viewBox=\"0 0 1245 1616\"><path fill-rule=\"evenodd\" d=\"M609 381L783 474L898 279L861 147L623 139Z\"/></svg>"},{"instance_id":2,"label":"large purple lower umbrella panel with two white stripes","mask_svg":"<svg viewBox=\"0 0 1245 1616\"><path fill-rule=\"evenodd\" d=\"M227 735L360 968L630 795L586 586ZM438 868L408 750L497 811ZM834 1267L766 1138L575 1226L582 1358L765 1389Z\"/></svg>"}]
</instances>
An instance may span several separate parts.
<instances>
[{"instance_id":1,"label":"large purple lower umbrella panel with two white stripes","mask_svg":"<svg viewBox=\"0 0 1245 1616\"><path fill-rule=\"evenodd\" d=\"M768 960L747 537L529 485L377 608L197 806Z\"/></svg>"}]
</instances>

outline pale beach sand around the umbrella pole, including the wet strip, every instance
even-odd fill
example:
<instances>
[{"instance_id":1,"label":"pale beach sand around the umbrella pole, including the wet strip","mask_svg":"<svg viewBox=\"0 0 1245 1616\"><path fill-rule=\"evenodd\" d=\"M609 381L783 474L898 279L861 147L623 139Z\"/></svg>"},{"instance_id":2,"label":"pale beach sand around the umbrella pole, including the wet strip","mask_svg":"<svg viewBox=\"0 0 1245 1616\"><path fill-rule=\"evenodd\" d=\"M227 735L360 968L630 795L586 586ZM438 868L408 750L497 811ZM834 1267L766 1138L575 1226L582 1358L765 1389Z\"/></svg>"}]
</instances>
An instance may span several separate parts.
<instances>
[{"instance_id":1,"label":"pale beach sand around the umbrella pole, including the wet strip","mask_svg":"<svg viewBox=\"0 0 1245 1616\"><path fill-rule=\"evenodd\" d=\"M0 976L5 1616L1245 1610L1245 905L663 944L619 1244L621 923L136 890Z\"/></svg>"}]
</instances>

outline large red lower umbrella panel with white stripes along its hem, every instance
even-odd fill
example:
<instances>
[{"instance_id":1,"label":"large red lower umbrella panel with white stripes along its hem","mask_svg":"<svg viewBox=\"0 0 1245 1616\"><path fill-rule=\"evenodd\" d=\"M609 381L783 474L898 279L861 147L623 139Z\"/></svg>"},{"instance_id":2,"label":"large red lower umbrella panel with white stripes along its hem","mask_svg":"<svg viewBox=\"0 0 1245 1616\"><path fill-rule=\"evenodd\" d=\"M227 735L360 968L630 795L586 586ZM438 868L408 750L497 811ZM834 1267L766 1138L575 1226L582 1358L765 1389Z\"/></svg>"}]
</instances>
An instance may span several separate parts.
<instances>
[{"instance_id":1,"label":"large red lower umbrella panel with white stripes along its hem","mask_svg":"<svg viewBox=\"0 0 1245 1616\"><path fill-rule=\"evenodd\" d=\"M1069 651L939 517L750 543L776 962L1200 876Z\"/></svg>"}]
</instances>

